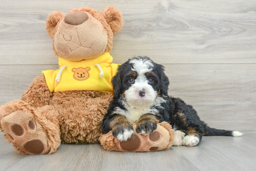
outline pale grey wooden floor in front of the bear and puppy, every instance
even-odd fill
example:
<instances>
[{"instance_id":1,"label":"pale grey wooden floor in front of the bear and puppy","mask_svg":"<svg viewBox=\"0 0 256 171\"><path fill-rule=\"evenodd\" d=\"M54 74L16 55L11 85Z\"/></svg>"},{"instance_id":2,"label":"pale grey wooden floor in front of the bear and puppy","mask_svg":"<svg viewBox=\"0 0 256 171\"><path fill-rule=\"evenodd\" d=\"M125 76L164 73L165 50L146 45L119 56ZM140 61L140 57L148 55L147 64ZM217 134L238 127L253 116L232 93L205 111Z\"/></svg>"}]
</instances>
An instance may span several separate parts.
<instances>
[{"instance_id":1,"label":"pale grey wooden floor in front of the bear and puppy","mask_svg":"<svg viewBox=\"0 0 256 171\"><path fill-rule=\"evenodd\" d=\"M21 155L0 136L1 170L255 170L255 132L203 137L194 147L156 152L106 151L100 144L61 144L51 155Z\"/></svg>"}]
</instances>

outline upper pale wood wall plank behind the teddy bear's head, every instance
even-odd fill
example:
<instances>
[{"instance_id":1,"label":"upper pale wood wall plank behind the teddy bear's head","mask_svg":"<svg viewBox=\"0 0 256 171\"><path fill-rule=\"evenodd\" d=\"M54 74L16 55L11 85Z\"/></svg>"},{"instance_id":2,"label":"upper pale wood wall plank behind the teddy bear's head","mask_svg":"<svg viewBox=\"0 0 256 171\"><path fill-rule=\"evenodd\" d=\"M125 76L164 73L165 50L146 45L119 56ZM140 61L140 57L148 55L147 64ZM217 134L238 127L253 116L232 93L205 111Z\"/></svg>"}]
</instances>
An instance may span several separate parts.
<instances>
[{"instance_id":1,"label":"upper pale wood wall plank behind the teddy bear's head","mask_svg":"<svg viewBox=\"0 0 256 171\"><path fill-rule=\"evenodd\" d=\"M157 63L256 63L256 3L234 1L13 1L0 7L0 64L57 64L46 35L49 13L87 6L119 8L124 27L114 37L115 63L134 55Z\"/></svg>"}]
</instances>

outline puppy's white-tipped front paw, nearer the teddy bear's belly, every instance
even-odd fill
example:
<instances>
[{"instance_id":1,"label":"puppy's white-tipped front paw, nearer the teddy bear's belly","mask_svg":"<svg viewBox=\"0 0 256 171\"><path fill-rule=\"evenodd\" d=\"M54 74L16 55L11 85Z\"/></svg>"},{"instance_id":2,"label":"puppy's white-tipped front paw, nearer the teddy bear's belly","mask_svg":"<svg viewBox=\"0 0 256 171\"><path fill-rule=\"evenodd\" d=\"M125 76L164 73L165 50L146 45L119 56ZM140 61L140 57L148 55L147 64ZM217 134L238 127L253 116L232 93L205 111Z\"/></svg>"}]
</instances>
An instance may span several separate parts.
<instances>
[{"instance_id":1,"label":"puppy's white-tipped front paw, nearer the teddy bear's belly","mask_svg":"<svg viewBox=\"0 0 256 171\"><path fill-rule=\"evenodd\" d=\"M131 138L133 134L133 127L131 124L127 126L117 124L114 128L112 128L112 134L120 141L126 141L127 139Z\"/></svg>"}]
</instances>

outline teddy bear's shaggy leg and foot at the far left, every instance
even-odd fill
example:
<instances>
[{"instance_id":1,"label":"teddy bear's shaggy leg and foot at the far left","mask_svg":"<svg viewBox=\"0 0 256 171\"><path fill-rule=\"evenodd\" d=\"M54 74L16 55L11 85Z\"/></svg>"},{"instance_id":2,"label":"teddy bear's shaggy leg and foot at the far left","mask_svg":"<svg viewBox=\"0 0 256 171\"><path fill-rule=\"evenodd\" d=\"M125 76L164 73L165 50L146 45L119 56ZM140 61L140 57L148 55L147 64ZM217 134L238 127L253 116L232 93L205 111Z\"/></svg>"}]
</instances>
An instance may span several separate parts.
<instances>
[{"instance_id":1,"label":"teddy bear's shaggy leg and foot at the far left","mask_svg":"<svg viewBox=\"0 0 256 171\"><path fill-rule=\"evenodd\" d=\"M35 109L15 100L0 108L0 129L21 154L50 154L61 143L58 116L53 106Z\"/></svg>"}]
</instances>

